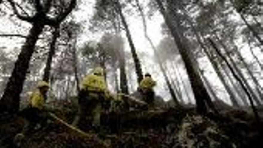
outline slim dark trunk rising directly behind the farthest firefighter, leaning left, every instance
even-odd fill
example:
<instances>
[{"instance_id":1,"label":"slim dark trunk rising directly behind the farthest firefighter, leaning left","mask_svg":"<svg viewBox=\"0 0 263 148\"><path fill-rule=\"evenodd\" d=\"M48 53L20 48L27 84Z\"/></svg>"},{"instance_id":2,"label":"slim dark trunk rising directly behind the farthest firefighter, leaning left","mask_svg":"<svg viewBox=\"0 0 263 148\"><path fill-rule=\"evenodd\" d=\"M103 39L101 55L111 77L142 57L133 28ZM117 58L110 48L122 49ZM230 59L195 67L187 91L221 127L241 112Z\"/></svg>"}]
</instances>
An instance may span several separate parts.
<instances>
[{"instance_id":1,"label":"slim dark trunk rising directly behind the farthest firefighter, leaning left","mask_svg":"<svg viewBox=\"0 0 263 148\"><path fill-rule=\"evenodd\" d=\"M136 53L136 49L135 49L135 46L134 46L134 43L132 40L132 36L131 36L130 30L129 30L128 24L126 22L126 19L123 15L122 8L121 8L119 0L114 1L114 4L115 4L115 8L116 8L117 13L120 15L122 25L123 25L125 32L126 32L126 37L128 39L128 42L129 42L129 45L131 48L131 52L132 52L132 58L133 58L134 64L135 64L135 71L137 74L137 82L139 84L140 81L143 80L143 72L142 72L140 60L139 60L138 55Z\"/></svg>"}]
</instances>

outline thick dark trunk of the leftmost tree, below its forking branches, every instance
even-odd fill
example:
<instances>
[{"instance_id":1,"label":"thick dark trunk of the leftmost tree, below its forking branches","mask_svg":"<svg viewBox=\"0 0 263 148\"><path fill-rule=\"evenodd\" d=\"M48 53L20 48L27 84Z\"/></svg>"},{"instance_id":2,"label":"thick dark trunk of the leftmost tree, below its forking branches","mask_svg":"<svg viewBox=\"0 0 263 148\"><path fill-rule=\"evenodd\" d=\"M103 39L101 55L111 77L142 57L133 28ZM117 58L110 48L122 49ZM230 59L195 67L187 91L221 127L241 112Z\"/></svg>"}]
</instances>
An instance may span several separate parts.
<instances>
[{"instance_id":1,"label":"thick dark trunk of the leftmost tree, below its forking branches","mask_svg":"<svg viewBox=\"0 0 263 148\"><path fill-rule=\"evenodd\" d=\"M29 62L34 52L36 41L43 28L44 24L39 20L39 22L34 23L30 29L0 100L0 112L17 112L19 110L19 95L23 89L23 83L26 79Z\"/></svg>"}]
</instances>

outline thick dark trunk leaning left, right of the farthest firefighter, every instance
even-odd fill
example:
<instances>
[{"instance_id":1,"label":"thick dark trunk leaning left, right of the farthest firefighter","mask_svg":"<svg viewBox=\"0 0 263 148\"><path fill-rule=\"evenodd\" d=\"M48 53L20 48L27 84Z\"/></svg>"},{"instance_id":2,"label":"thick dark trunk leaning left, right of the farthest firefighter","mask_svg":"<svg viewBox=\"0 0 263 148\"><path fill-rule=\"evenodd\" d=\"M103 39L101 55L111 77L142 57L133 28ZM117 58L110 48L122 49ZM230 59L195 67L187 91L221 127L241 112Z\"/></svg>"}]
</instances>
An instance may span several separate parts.
<instances>
[{"instance_id":1,"label":"thick dark trunk leaning left, right of the farthest firefighter","mask_svg":"<svg viewBox=\"0 0 263 148\"><path fill-rule=\"evenodd\" d=\"M172 33L172 36L174 37L175 43L178 47L179 53L181 54L181 57L184 61L185 67L187 74L189 76L189 80L192 86L192 90L195 96L196 100L196 107L197 107L197 112L201 114L207 113L207 107L205 102L212 102L211 98L201 80L200 75L198 74L198 71L194 68L194 65L191 61L191 57L188 54L188 50L183 44L183 41L180 39L180 35L178 34L178 27L174 26L171 22L171 18L169 15L166 13L166 10L163 7L163 4L160 0L155 0L158 4L160 13L163 15L164 20L166 22L166 25L168 26L169 30ZM208 103L209 105L212 105ZM211 109L213 109L215 112L217 112L214 108L214 106L210 106Z\"/></svg>"}]
</instances>

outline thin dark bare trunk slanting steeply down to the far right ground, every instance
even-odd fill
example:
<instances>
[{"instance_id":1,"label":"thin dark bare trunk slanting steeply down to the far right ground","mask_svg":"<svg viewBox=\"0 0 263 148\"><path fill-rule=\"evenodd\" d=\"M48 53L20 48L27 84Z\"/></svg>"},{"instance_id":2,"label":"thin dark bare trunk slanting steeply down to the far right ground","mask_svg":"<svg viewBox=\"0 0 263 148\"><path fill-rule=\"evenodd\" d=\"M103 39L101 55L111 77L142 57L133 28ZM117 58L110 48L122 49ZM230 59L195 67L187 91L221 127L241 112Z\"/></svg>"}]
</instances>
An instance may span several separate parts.
<instances>
[{"instance_id":1,"label":"thin dark bare trunk slanting steeply down to the far right ground","mask_svg":"<svg viewBox=\"0 0 263 148\"><path fill-rule=\"evenodd\" d=\"M230 65L230 63L227 61L227 59L221 54L221 52L219 51L219 49L216 47L215 43L212 41L212 39L208 38L210 44L212 45L212 47L215 49L215 51L217 52L217 54L224 60L224 62L226 62L226 64L228 65L228 67L230 68L230 71L232 72L233 76L236 78L236 80L238 80L238 82L240 83L240 85L242 86L242 88L244 89L244 91L246 92L248 99L250 101L253 113L255 115L256 121L258 122L258 125L260 125L260 118L259 118L259 114L257 112L257 109L253 103L253 99L251 94L249 93L249 91L246 89L245 85L242 83L242 80L238 77L238 75L236 74L236 72L234 71L234 69L232 68L232 66Z\"/></svg>"}]
</instances>

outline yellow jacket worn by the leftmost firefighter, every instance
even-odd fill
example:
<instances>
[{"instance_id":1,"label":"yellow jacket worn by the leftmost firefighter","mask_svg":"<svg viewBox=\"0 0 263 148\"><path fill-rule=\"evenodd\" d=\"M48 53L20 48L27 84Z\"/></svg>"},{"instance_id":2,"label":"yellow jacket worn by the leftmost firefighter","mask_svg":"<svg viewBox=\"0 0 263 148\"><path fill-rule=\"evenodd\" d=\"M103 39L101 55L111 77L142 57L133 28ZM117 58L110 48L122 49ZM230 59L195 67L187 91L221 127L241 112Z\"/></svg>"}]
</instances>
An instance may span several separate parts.
<instances>
[{"instance_id":1,"label":"yellow jacket worn by the leftmost firefighter","mask_svg":"<svg viewBox=\"0 0 263 148\"><path fill-rule=\"evenodd\" d=\"M29 97L29 104L32 107L36 107L38 109L43 109L45 105L44 96L40 93L39 89L34 91Z\"/></svg>"}]
</instances>

